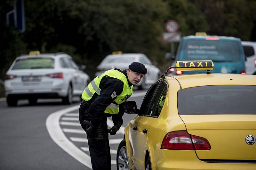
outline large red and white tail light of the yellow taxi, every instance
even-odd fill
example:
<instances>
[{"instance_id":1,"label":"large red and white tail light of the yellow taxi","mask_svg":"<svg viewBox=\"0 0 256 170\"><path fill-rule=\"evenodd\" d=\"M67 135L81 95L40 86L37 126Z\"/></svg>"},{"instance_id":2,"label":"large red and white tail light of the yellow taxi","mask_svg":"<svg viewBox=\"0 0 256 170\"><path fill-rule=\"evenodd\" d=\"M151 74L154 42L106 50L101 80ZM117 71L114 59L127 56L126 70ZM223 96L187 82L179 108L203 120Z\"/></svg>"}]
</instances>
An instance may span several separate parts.
<instances>
[{"instance_id":1,"label":"large red and white tail light of the yellow taxi","mask_svg":"<svg viewBox=\"0 0 256 170\"><path fill-rule=\"evenodd\" d=\"M188 134L187 131L174 131L165 135L161 149L172 150L210 150L208 140Z\"/></svg>"}]
</instances>

